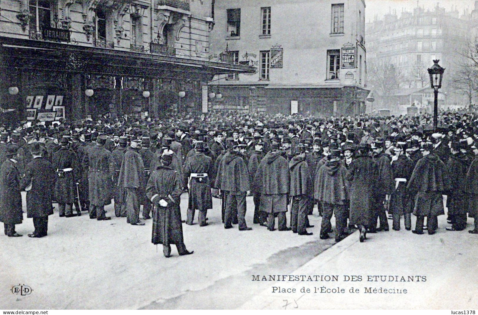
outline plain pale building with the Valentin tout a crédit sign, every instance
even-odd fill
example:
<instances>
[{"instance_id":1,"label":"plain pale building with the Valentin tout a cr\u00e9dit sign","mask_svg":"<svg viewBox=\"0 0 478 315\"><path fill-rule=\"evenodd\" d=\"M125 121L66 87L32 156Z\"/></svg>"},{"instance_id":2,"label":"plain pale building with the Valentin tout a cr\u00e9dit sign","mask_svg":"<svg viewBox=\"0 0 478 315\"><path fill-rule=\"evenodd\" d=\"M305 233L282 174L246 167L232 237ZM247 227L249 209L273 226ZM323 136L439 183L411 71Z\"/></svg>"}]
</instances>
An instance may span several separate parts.
<instances>
[{"instance_id":1,"label":"plain pale building with the Valentin tout a cr\u00e9dit sign","mask_svg":"<svg viewBox=\"0 0 478 315\"><path fill-rule=\"evenodd\" d=\"M363 113L363 0L216 0L214 11L209 58L257 71L216 76L213 110Z\"/></svg>"}]
</instances>

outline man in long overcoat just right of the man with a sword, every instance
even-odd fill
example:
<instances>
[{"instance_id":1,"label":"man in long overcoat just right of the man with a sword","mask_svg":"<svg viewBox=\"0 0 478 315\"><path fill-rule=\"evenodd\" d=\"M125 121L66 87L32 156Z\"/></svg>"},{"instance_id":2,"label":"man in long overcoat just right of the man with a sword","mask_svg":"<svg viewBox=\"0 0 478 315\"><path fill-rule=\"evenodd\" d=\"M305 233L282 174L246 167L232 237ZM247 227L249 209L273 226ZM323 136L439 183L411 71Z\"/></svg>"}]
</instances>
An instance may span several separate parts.
<instances>
[{"instance_id":1,"label":"man in long overcoat just right of the man with a sword","mask_svg":"<svg viewBox=\"0 0 478 315\"><path fill-rule=\"evenodd\" d=\"M114 160L104 146L106 135L99 135L96 146L88 150L84 163L88 163L88 198L90 219L98 221L110 220L105 216L105 206L111 203L113 197Z\"/></svg>"}]
</instances>

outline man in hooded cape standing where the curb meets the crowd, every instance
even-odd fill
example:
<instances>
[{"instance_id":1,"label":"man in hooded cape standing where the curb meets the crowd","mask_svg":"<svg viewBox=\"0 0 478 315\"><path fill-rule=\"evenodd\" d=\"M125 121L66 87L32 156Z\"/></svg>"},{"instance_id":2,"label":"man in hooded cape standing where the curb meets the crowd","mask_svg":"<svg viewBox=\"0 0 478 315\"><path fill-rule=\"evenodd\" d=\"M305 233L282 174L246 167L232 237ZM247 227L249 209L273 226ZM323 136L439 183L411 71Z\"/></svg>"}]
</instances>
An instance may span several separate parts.
<instances>
[{"instance_id":1,"label":"man in hooded cape standing where the curb meets the crowd","mask_svg":"<svg viewBox=\"0 0 478 315\"><path fill-rule=\"evenodd\" d=\"M335 240L340 242L348 233L347 168L340 161L340 151L332 150L326 163L315 176L314 198L322 204L321 239L328 239L330 218L335 214Z\"/></svg>"}]
</instances>

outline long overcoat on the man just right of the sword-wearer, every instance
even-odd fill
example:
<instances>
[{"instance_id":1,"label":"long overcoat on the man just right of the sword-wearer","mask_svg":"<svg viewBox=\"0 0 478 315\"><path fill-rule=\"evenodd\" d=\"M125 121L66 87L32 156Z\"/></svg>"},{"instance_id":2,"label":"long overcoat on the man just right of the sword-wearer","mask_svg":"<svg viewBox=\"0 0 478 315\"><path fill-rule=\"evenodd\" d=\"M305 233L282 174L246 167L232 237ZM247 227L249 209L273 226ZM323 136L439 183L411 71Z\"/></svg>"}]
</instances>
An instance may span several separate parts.
<instances>
[{"instance_id":1,"label":"long overcoat on the man just right of the sword-wearer","mask_svg":"<svg viewBox=\"0 0 478 315\"><path fill-rule=\"evenodd\" d=\"M88 151L88 198L91 204L106 206L113 196L113 177L115 163L111 152L103 146L95 146Z\"/></svg>"}]
</instances>

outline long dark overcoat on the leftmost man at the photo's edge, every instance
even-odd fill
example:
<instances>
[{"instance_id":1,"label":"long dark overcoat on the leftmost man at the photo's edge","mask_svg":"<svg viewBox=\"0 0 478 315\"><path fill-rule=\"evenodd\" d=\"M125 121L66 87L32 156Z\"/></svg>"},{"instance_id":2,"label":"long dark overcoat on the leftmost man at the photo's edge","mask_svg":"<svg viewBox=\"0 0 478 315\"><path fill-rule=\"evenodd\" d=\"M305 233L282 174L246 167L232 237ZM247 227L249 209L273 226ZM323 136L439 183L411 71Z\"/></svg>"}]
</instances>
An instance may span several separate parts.
<instances>
[{"instance_id":1,"label":"long dark overcoat on the leftmost man at the photo's edge","mask_svg":"<svg viewBox=\"0 0 478 315\"><path fill-rule=\"evenodd\" d=\"M0 167L0 222L20 224L23 220L20 173L10 159Z\"/></svg>"}]
</instances>

